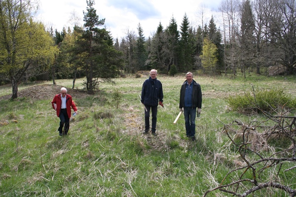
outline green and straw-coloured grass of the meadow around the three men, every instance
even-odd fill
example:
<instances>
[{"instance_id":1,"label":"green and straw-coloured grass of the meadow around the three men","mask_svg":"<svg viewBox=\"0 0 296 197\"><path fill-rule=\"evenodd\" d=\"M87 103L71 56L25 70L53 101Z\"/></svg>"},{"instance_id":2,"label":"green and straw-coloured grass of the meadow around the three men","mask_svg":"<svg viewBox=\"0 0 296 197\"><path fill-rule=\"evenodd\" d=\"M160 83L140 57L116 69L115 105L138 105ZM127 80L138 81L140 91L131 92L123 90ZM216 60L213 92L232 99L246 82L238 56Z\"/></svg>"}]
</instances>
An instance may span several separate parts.
<instances>
[{"instance_id":1,"label":"green and straw-coloured grass of the meadow around the three men","mask_svg":"<svg viewBox=\"0 0 296 197\"><path fill-rule=\"evenodd\" d=\"M296 97L295 76L253 75L245 79L194 75L202 88L203 106L201 117L196 119L197 140L191 142L185 137L184 116L173 124L179 113L180 88L185 80L181 74L158 75L163 84L165 106L158 108L158 135L142 134L144 108L139 94L146 78L114 79L115 84L101 84L99 96L74 97L78 115L66 137L58 135L59 118L50 99L0 100L0 196L202 196L217 187L233 169L233 161L238 160L237 149L229 145L229 139L222 133L222 123L264 119L260 115L245 116L229 111L227 98L250 91L252 85L259 89L283 88L285 93ZM76 80L80 88L82 81ZM72 87L71 79L56 82ZM39 84L20 84L19 91L32 85ZM116 90L122 94L118 109L111 96ZM8 94L11 87L0 87L0 96ZM256 158L252 154L250 157ZM252 178L251 173L246 173L246 177ZM293 170L285 172L284 177L286 180L281 181L295 188ZM255 196L268 196L265 194L289 196L275 190L257 192ZM227 194L214 191L208 196Z\"/></svg>"}]
</instances>

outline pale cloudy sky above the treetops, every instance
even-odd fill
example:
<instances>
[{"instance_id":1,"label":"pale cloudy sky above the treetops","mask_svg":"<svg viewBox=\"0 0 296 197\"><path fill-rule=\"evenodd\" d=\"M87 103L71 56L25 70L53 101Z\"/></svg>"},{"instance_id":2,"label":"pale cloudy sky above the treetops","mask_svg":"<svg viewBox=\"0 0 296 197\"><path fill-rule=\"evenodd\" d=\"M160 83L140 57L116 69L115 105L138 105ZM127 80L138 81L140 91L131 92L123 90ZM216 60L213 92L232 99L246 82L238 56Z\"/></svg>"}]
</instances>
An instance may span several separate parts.
<instances>
[{"instance_id":1,"label":"pale cloudy sky above the treetops","mask_svg":"<svg viewBox=\"0 0 296 197\"><path fill-rule=\"evenodd\" d=\"M125 37L127 32L138 35L140 23L145 37L151 37L159 23L164 29L172 17L178 28L182 24L185 13L193 27L201 25L201 10L205 10L204 23L209 23L211 16L218 11L222 0L94 0L94 8L99 19L105 18L105 27L113 38ZM83 11L86 12L86 0L39 0L37 20L46 28L61 32L63 27L74 26L73 16L83 26ZM74 13L74 14L73 14ZM219 20L219 19L217 19ZM219 27L218 27L219 28Z\"/></svg>"}]
</instances>

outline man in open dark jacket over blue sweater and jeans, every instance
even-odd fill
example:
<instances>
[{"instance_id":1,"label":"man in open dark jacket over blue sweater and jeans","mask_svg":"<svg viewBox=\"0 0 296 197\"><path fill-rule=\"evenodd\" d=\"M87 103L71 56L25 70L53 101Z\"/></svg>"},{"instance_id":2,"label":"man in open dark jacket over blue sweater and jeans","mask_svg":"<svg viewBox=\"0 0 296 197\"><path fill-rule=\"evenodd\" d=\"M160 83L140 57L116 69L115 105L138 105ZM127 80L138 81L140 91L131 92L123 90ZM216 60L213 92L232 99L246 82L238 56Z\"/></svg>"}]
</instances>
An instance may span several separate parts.
<instances>
[{"instance_id":1,"label":"man in open dark jacket over blue sweater and jeans","mask_svg":"<svg viewBox=\"0 0 296 197\"><path fill-rule=\"evenodd\" d=\"M195 140L195 116L201 113L201 88L193 80L191 72L186 73L186 81L182 84L180 91L180 111L184 110L186 135L192 141ZM197 111L196 111L197 108Z\"/></svg>"}]
</instances>

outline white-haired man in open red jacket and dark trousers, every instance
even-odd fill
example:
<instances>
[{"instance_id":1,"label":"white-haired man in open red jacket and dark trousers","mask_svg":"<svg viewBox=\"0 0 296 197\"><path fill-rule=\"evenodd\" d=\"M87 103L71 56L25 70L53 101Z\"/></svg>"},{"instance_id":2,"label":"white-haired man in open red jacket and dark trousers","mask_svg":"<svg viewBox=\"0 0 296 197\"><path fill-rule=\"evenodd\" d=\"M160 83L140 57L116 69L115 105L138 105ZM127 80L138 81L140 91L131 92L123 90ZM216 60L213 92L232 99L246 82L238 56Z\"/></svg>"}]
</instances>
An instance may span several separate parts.
<instances>
[{"instance_id":1,"label":"white-haired man in open red jacket and dark trousers","mask_svg":"<svg viewBox=\"0 0 296 197\"><path fill-rule=\"evenodd\" d=\"M61 93L54 96L51 104L52 108L57 111L57 116L60 117L60 127L58 129L60 136L67 135L70 127L71 107L77 114L77 107L75 106L72 97L67 94L67 89L61 88Z\"/></svg>"}]
</instances>

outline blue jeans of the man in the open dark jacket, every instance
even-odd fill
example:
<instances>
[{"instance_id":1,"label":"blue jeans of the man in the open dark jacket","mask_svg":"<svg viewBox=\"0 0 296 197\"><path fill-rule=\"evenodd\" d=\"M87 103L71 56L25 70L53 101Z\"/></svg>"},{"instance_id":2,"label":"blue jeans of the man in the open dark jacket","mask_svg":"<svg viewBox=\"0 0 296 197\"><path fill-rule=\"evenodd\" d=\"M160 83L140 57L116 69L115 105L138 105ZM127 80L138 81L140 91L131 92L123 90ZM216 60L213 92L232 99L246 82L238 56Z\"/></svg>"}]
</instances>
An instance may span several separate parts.
<instances>
[{"instance_id":1,"label":"blue jeans of the man in the open dark jacket","mask_svg":"<svg viewBox=\"0 0 296 197\"><path fill-rule=\"evenodd\" d=\"M184 118L185 118L186 136L193 137L195 136L196 108L184 107L183 110L184 110Z\"/></svg>"}]
</instances>

